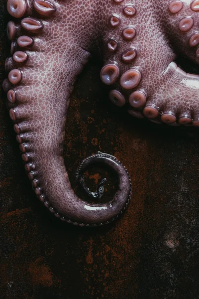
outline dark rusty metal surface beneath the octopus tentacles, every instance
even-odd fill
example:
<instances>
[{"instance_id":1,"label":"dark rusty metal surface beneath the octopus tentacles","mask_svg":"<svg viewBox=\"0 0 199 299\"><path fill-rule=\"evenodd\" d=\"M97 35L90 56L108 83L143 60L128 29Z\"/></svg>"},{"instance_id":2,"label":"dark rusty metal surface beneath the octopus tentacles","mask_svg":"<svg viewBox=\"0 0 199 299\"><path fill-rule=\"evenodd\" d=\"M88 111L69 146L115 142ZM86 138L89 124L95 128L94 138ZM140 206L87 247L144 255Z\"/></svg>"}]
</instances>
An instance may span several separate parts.
<instances>
[{"instance_id":1,"label":"dark rusty metal surface beneath the octopus tentacles","mask_svg":"<svg viewBox=\"0 0 199 299\"><path fill-rule=\"evenodd\" d=\"M117 156L130 173L132 200L117 222L97 229L55 219L31 190L1 97L0 298L197 299L198 131L126 116L109 103L99 72L94 59L72 96L65 163L76 188L74 173L84 157L98 150ZM2 76L1 69L0 84ZM88 173L93 185L100 176ZM112 180L107 198L114 187Z\"/></svg>"}]
</instances>

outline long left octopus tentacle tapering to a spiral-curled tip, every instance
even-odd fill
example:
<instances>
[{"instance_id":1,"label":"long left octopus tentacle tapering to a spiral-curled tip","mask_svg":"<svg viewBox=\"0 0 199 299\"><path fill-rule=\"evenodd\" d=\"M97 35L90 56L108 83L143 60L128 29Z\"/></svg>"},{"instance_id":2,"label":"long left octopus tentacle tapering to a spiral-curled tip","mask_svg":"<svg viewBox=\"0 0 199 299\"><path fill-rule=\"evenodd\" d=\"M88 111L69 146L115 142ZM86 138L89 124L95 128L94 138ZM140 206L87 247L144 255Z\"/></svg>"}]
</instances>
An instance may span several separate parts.
<instances>
[{"instance_id":1,"label":"long left octopus tentacle tapering to a spiral-curled tip","mask_svg":"<svg viewBox=\"0 0 199 299\"><path fill-rule=\"evenodd\" d=\"M129 201L131 183L126 168L115 157L97 153L83 161L79 174L91 162L108 164L119 179L114 198L106 204L89 204L78 198L71 187L62 154L64 126L70 93L92 46L91 41L85 43L90 31L85 38L71 38L71 16L65 13L64 5L48 0L8 0L8 12L18 22L11 21L7 26L12 57L5 61L8 81L5 80L4 89L35 194L62 221L95 226L120 215ZM90 14L86 17L89 19ZM68 27L63 40L58 34L62 22ZM75 34L80 34L78 28ZM98 199L104 182L98 186Z\"/></svg>"}]
</instances>

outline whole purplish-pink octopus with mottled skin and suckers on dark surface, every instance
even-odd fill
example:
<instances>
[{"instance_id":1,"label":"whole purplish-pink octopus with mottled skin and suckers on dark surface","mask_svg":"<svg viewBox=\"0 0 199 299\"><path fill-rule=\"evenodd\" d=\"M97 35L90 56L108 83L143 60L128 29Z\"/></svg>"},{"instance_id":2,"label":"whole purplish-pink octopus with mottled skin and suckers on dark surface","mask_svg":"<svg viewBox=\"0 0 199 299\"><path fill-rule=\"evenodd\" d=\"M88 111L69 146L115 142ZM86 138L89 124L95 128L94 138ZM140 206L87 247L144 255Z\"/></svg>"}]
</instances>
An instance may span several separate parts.
<instances>
[{"instance_id":1,"label":"whole purplish-pink octopus with mottled skin and suckers on dark surface","mask_svg":"<svg viewBox=\"0 0 199 299\"><path fill-rule=\"evenodd\" d=\"M179 55L199 64L199 0L7 0L11 15L5 61L9 116L36 196L62 221L80 226L110 223L126 209L131 181L114 156L97 152L118 177L107 203L88 203L73 191L63 159L66 116L77 76L90 56L103 60L100 78L109 99L137 118L199 127L199 75L176 64Z\"/></svg>"}]
</instances>

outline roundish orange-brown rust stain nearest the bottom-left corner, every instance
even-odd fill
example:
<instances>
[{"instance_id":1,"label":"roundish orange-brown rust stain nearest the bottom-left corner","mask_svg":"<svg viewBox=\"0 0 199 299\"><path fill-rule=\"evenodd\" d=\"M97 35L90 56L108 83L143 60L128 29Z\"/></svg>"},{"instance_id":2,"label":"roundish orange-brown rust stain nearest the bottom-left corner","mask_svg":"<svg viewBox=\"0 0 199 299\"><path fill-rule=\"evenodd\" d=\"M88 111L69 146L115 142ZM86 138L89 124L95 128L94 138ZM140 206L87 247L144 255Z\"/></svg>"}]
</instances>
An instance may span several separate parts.
<instances>
[{"instance_id":1,"label":"roundish orange-brown rust stain nearest the bottom-left corner","mask_svg":"<svg viewBox=\"0 0 199 299\"><path fill-rule=\"evenodd\" d=\"M38 258L30 264L28 272L32 277L33 285L44 287L52 287L54 285L52 272L47 265L42 263L42 259Z\"/></svg>"}]
</instances>

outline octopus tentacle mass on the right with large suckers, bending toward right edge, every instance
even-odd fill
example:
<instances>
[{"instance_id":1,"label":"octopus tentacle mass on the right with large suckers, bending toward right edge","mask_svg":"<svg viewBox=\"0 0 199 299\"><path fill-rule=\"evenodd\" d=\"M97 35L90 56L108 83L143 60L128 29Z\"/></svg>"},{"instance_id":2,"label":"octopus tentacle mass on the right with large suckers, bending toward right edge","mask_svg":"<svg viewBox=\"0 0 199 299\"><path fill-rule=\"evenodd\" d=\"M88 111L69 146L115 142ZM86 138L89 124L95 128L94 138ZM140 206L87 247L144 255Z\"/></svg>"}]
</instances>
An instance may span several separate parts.
<instances>
[{"instance_id":1,"label":"octopus tentacle mass on the right with large suckers, bending toward right edge","mask_svg":"<svg viewBox=\"0 0 199 299\"><path fill-rule=\"evenodd\" d=\"M179 54L199 63L198 5L198 0L112 1L100 73L112 85L112 103L128 105L137 118L198 126L199 76L174 63Z\"/></svg>"}]
</instances>

